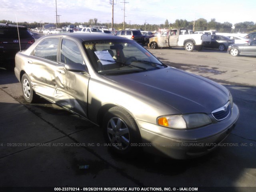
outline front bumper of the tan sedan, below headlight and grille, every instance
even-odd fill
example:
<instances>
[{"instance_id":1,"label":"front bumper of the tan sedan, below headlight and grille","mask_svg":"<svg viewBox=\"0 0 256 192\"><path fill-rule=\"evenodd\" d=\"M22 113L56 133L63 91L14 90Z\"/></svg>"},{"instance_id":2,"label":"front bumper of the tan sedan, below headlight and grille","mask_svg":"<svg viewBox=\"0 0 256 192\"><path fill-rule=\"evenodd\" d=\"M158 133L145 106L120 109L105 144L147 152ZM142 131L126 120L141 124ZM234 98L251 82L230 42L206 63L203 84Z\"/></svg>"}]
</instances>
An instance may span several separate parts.
<instances>
[{"instance_id":1,"label":"front bumper of the tan sedan, below headlight and grille","mask_svg":"<svg viewBox=\"0 0 256 192\"><path fill-rule=\"evenodd\" d=\"M136 120L144 150L175 159L188 159L208 154L230 134L238 120L236 104L228 118L191 130L175 130Z\"/></svg>"}]
</instances>

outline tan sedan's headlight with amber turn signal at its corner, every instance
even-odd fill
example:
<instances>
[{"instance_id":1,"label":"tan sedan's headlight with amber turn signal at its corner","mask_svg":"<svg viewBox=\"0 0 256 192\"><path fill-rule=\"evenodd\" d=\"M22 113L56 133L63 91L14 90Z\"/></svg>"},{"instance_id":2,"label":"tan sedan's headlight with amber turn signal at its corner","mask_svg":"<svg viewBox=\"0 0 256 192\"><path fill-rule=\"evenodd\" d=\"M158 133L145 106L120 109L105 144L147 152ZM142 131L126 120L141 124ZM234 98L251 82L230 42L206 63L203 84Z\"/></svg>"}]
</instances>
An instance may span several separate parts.
<instances>
[{"instance_id":1,"label":"tan sedan's headlight with amber turn signal at its corner","mask_svg":"<svg viewBox=\"0 0 256 192\"><path fill-rule=\"evenodd\" d=\"M156 122L160 126L175 129L191 129L212 123L210 117L204 113L160 116Z\"/></svg>"}]
</instances>

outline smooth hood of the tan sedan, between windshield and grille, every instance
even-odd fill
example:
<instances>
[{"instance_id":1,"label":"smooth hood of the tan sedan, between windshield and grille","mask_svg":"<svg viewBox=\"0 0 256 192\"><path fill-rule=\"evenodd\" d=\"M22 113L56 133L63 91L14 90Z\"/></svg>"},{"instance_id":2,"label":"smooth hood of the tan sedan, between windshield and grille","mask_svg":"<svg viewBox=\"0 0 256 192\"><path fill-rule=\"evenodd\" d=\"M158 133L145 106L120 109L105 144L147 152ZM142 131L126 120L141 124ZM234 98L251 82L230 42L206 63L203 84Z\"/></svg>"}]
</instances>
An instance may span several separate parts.
<instances>
[{"instance_id":1,"label":"smooth hood of the tan sedan, between windshield and grille","mask_svg":"<svg viewBox=\"0 0 256 192\"><path fill-rule=\"evenodd\" d=\"M229 100L229 92L224 86L171 67L104 77L145 102L153 99L151 105L160 104L181 114L210 114Z\"/></svg>"}]
</instances>

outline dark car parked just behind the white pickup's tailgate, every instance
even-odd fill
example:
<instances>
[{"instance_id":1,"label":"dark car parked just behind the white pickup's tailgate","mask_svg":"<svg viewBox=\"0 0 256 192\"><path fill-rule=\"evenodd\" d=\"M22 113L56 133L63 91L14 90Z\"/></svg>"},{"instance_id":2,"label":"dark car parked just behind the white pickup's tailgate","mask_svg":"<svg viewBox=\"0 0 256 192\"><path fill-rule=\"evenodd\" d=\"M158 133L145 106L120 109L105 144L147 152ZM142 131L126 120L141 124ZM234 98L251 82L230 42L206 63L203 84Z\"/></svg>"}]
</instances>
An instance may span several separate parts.
<instances>
[{"instance_id":1,"label":"dark car parked just behind the white pickup's tailgate","mask_svg":"<svg viewBox=\"0 0 256 192\"><path fill-rule=\"evenodd\" d=\"M228 37L222 36L222 35L212 35L212 41L211 44L205 45L205 48L216 48L220 51L224 51L228 49L228 46L230 44L234 44L235 40L232 40Z\"/></svg>"}]
</instances>

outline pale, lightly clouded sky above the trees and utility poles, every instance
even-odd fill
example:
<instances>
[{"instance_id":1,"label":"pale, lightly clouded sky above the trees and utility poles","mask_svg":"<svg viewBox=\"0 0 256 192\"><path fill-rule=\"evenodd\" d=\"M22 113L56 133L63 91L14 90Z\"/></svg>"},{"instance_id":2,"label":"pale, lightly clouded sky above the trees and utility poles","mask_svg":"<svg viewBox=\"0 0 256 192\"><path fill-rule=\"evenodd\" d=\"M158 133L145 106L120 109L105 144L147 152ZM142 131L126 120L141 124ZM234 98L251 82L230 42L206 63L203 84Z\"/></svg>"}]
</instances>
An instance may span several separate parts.
<instances>
[{"instance_id":1,"label":"pale, lightly clouded sky above the trees and utility poles","mask_svg":"<svg viewBox=\"0 0 256 192\"><path fill-rule=\"evenodd\" d=\"M111 0L0 0L0 20L16 22L56 23L56 2L59 22L111 22ZM114 0L114 23L160 25L168 19L204 18L210 21L256 22L255 0ZM15 16L16 15L16 16Z\"/></svg>"}]
</instances>

